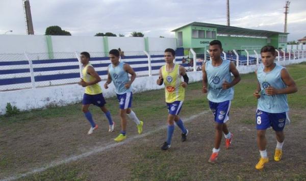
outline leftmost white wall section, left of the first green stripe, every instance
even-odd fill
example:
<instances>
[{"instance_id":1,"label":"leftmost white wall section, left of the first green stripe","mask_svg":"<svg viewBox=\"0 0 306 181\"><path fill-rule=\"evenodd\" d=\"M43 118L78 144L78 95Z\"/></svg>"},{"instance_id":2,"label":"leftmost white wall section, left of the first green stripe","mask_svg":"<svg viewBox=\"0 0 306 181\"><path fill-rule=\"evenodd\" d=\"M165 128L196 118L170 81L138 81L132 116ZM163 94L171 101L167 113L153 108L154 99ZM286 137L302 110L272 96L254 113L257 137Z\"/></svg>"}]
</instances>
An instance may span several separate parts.
<instances>
[{"instance_id":1,"label":"leftmost white wall section, left of the first green stripe","mask_svg":"<svg viewBox=\"0 0 306 181\"><path fill-rule=\"evenodd\" d=\"M46 53L47 42L43 35L0 35L0 54Z\"/></svg>"}]
</instances>

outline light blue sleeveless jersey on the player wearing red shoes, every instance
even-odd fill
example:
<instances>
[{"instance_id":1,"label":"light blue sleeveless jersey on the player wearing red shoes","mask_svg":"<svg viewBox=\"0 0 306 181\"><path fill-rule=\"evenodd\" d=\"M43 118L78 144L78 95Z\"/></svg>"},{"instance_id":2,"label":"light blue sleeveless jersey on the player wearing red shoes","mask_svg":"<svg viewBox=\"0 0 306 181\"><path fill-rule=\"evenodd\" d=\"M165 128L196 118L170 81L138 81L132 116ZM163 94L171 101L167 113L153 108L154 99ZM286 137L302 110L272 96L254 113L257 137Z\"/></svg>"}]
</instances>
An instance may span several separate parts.
<instances>
[{"instance_id":1,"label":"light blue sleeveless jersey on the player wearing red shoes","mask_svg":"<svg viewBox=\"0 0 306 181\"><path fill-rule=\"evenodd\" d=\"M223 102L232 100L234 97L234 88L223 90L222 84L224 81L232 82L230 72L230 61L222 60L222 64L215 67L212 61L206 62L205 70L208 81L208 95L207 98L212 102Z\"/></svg>"}]
</instances>

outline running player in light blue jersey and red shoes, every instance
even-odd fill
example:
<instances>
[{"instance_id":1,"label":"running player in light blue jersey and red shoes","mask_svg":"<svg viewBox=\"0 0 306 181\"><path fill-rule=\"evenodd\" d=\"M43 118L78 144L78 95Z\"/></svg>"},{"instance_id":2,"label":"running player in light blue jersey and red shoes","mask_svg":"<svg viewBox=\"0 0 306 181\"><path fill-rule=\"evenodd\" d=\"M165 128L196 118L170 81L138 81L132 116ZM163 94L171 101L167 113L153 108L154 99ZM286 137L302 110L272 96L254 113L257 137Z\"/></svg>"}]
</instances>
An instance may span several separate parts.
<instances>
[{"instance_id":1,"label":"running player in light blue jersey and red shoes","mask_svg":"<svg viewBox=\"0 0 306 181\"><path fill-rule=\"evenodd\" d=\"M233 134L228 132L226 121L230 112L231 100L234 97L234 88L240 81L236 66L229 60L221 59L222 44L219 40L210 42L209 54L211 61L202 65L203 87L202 92L208 93L209 107L215 117L215 143L209 162L215 163L220 151L222 133L225 137L225 147L229 148L233 141ZM232 80L231 73L234 75Z\"/></svg>"}]
</instances>

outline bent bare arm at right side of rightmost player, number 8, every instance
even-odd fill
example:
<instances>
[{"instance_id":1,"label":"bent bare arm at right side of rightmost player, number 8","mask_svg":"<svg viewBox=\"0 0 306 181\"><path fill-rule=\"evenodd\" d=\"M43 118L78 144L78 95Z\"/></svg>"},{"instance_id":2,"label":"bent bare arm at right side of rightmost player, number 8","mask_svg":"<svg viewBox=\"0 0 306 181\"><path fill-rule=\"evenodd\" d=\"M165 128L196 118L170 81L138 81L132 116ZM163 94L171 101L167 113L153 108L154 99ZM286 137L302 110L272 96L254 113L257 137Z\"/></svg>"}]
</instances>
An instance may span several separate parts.
<instances>
[{"instance_id":1,"label":"bent bare arm at right side of rightmost player, number 8","mask_svg":"<svg viewBox=\"0 0 306 181\"><path fill-rule=\"evenodd\" d=\"M275 89L274 87L269 86L266 89L267 95L292 94L297 92L296 84L285 68L281 70L281 77L287 87L284 89Z\"/></svg>"}]
</instances>

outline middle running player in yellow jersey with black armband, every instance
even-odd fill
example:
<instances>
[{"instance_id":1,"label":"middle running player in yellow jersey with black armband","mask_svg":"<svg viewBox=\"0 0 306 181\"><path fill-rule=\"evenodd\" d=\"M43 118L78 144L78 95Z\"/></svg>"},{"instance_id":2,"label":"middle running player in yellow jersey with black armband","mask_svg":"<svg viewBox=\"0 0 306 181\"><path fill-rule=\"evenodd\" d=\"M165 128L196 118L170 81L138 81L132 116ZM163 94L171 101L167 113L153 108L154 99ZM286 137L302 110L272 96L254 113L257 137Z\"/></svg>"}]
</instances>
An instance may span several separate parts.
<instances>
[{"instance_id":1,"label":"middle running player in yellow jersey with black armband","mask_svg":"<svg viewBox=\"0 0 306 181\"><path fill-rule=\"evenodd\" d=\"M179 117L185 97L185 88L188 84L188 76L183 66L174 64L175 51L171 48L165 50L164 58L166 65L160 68L158 85L165 84L165 98L168 107L168 128L167 141L164 142L161 149L167 150L171 146L171 139L174 132L174 122L182 130L182 142L186 141L188 130L184 126L183 121ZM182 82L182 77L184 82Z\"/></svg>"}]
</instances>

